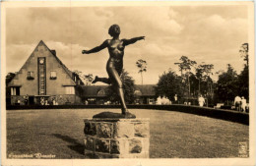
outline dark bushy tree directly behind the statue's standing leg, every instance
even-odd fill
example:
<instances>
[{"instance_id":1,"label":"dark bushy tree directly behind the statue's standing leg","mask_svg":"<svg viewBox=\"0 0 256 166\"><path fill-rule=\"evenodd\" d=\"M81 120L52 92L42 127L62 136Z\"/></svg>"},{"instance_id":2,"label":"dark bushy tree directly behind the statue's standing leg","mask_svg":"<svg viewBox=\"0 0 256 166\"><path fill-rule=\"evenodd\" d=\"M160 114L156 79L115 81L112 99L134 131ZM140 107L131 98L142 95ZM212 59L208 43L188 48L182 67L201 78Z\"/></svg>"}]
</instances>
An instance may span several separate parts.
<instances>
[{"instance_id":1,"label":"dark bushy tree directly behind the statue's standing leg","mask_svg":"<svg viewBox=\"0 0 256 166\"><path fill-rule=\"evenodd\" d=\"M135 84L132 77L129 76L129 73L126 72L124 69L121 73L120 79L123 83L123 90L124 90L124 99L126 103L133 103L135 100L134 96L134 89ZM119 101L119 95L116 93L116 87L113 84L107 87L106 95L110 101Z\"/></svg>"}]
</instances>

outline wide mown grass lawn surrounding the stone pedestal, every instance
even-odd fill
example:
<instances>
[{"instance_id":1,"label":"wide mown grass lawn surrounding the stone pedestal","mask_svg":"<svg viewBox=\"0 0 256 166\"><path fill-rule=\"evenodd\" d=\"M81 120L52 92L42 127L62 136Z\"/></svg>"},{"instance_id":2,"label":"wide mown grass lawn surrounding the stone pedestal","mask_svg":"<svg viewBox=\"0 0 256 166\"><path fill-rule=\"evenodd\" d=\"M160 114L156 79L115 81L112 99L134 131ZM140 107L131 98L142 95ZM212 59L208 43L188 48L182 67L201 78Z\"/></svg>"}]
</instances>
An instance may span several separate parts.
<instances>
[{"instance_id":1,"label":"wide mown grass lawn surrounding the stone pedestal","mask_svg":"<svg viewBox=\"0 0 256 166\"><path fill-rule=\"evenodd\" d=\"M84 158L84 118L118 109L7 111L8 154L53 154ZM151 158L238 157L238 143L249 141L249 127L192 114L131 109L150 118Z\"/></svg>"}]
</instances>

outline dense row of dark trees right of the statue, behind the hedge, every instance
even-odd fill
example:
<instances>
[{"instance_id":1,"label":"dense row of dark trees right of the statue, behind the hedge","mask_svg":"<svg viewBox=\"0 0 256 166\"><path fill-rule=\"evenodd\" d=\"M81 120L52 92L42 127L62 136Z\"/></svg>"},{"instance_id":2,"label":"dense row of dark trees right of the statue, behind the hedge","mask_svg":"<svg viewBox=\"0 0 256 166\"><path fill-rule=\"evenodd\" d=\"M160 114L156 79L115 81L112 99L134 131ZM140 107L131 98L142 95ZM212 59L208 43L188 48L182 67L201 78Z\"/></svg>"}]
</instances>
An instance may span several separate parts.
<instances>
[{"instance_id":1,"label":"dense row of dark trees right of the statue, behind the hedge","mask_svg":"<svg viewBox=\"0 0 256 166\"><path fill-rule=\"evenodd\" d=\"M178 65L180 76L169 69L160 76L157 83L157 95L165 95L172 101L177 94L181 102L192 102L202 95L207 99L207 104L225 103L231 105L236 95L244 96L249 100L249 56L248 43L242 44L239 50L244 60L244 67L240 74L230 64L226 70L216 73L218 81L214 82L213 64L197 64L187 56L181 56ZM241 62L242 63L242 62ZM194 72L192 72L192 70Z\"/></svg>"}]
</instances>

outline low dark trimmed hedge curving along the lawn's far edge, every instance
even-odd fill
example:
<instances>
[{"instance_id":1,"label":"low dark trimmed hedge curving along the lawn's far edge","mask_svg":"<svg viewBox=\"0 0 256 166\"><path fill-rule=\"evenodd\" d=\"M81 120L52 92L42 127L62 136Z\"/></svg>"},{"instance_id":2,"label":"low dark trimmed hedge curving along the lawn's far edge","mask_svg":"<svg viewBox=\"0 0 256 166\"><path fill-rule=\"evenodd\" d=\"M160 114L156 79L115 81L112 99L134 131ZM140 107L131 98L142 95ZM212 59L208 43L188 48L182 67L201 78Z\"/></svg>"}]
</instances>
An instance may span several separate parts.
<instances>
[{"instance_id":1,"label":"low dark trimmed hedge curving along the lawn's far edge","mask_svg":"<svg viewBox=\"0 0 256 166\"><path fill-rule=\"evenodd\" d=\"M225 121L249 125L249 114L232 110L214 109L191 105L127 105L129 109L156 109L177 111L200 116L207 116ZM9 105L7 110L19 109L96 109L96 108L120 108L120 105Z\"/></svg>"}]
</instances>

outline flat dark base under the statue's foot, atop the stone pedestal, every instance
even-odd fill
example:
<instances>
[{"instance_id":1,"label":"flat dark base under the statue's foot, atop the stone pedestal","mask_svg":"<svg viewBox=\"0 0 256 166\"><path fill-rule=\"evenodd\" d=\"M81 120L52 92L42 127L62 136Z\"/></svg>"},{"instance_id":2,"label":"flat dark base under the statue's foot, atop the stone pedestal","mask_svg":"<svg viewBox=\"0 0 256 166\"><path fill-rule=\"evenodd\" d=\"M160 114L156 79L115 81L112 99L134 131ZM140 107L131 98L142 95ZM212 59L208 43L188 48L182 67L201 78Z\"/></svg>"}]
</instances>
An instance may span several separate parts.
<instances>
[{"instance_id":1,"label":"flat dark base under the statue's foot, atop the stone pedestal","mask_svg":"<svg viewBox=\"0 0 256 166\"><path fill-rule=\"evenodd\" d=\"M135 119L136 116L127 112L126 114L113 113L113 112L101 112L94 115L93 118L119 118L119 119Z\"/></svg>"}]
</instances>

